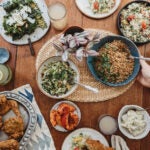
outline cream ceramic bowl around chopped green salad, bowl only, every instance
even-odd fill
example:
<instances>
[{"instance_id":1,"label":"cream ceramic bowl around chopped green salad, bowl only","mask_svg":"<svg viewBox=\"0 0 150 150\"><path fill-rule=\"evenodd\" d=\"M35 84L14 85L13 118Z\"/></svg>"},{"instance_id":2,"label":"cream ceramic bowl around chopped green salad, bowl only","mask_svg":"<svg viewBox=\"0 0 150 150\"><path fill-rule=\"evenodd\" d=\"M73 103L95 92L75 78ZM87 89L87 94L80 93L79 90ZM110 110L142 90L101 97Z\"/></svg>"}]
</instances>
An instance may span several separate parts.
<instances>
[{"instance_id":1,"label":"cream ceramic bowl around chopped green salad, bowl only","mask_svg":"<svg viewBox=\"0 0 150 150\"><path fill-rule=\"evenodd\" d=\"M39 89L41 90L41 92L43 94L45 94L46 96L48 97L51 97L51 98L54 98L54 99L62 99L62 98L65 98L67 96L69 96L70 94L72 94L76 88L78 87L77 84L75 84L66 94L62 94L62 95L59 95L59 96L55 96L55 95L51 95L50 93L46 92L42 85L41 85L41 73L43 71L43 68L45 65L47 65L48 63L50 62L56 62L56 61L60 61L62 60L61 57L59 56L54 56L54 57L50 57L48 58L46 61L44 61L42 63L42 65L39 67L38 71L37 71L37 76L36 76L36 80L37 80L37 84L38 84L38 87ZM75 81L79 82L79 70L77 68L77 66L71 61L71 60L68 60L68 63L70 64L70 67L76 72L76 76L75 76Z\"/></svg>"}]
</instances>

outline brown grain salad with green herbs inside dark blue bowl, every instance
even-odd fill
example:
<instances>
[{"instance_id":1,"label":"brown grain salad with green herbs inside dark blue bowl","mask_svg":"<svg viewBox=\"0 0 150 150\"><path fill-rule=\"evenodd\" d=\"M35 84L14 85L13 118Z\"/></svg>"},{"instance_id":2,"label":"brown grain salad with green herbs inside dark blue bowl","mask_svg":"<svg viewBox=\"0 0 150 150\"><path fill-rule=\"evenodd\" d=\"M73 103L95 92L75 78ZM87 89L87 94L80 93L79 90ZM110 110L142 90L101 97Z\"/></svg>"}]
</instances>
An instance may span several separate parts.
<instances>
[{"instance_id":1,"label":"brown grain salad with green herbs inside dark blue bowl","mask_svg":"<svg viewBox=\"0 0 150 150\"><path fill-rule=\"evenodd\" d=\"M125 43L114 40L99 50L94 60L97 75L105 82L119 83L133 72L134 60L129 58L130 51Z\"/></svg>"}]
</instances>

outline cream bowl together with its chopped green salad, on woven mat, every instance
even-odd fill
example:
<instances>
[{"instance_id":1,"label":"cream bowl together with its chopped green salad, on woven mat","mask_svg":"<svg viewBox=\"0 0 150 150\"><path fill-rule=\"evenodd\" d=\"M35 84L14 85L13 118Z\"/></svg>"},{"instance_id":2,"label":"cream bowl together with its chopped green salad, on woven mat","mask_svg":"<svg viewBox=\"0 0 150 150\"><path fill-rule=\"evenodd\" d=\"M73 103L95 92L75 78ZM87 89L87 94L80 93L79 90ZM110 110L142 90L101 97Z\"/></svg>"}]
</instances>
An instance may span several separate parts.
<instances>
[{"instance_id":1,"label":"cream bowl together with its chopped green salad, on woven mat","mask_svg":"<svg viewBox=\"0 0 150 150\"><path fill-rule=\"evenodd\" d=\"M40 90L56 99L71 94L77 88L78 81L79 72L76 65L70 60L64 62L58 56L47 59L37 73Z\"/></svg>"}]
</instances>

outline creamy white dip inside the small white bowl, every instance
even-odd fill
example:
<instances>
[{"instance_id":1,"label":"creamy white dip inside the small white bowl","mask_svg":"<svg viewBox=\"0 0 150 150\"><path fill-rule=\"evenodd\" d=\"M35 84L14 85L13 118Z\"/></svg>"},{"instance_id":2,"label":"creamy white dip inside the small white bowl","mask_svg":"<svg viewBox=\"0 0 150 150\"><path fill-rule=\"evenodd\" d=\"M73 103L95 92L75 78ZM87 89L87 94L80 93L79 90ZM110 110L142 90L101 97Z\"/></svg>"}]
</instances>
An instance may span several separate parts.
<instances>
[{"instance_id":1,"label":"creamy white dip inside the small white bowl","mask_svg":"<svg viewBox=\"0 0 150 150\"><path fill-rule=\"evenodd\" d=\"M146 128L143 111L129 110L121 119L121 126L126 128L133 136L142 134Z\"/></svg>"}]
</instances>

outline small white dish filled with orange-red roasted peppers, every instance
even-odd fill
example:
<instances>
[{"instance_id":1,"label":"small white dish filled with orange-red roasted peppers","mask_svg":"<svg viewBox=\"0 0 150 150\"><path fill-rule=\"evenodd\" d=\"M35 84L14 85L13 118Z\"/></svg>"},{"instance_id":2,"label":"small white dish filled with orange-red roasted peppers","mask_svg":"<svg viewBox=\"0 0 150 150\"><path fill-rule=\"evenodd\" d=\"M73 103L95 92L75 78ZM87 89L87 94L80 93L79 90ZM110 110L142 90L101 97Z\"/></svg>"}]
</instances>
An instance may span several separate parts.
<instances>
[{"instance_id":1,"label":"small white dish filled with orange-red roasted peppers","mask_svg":"<svg viewBox=\"0 0 150 150\"><path fill-rule=\"evenodd\" d=\"M50 111L50 122L59 131L70 131L76 128L81 118L79 108L72 102L62 101Z\"/></svg>"}]
</instances>

